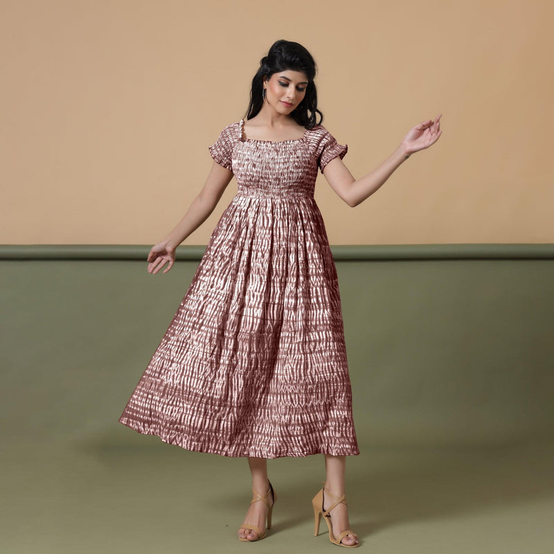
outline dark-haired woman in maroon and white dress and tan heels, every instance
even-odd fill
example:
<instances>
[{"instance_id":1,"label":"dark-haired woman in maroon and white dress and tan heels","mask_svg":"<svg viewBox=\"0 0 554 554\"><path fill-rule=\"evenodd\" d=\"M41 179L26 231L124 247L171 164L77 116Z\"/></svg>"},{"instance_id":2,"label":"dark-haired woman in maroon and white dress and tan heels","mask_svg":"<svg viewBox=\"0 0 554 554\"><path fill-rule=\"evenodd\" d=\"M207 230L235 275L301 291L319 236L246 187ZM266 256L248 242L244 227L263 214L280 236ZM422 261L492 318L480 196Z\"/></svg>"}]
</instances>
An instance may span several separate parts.
<instances>
[{"instance_id":1,"label":"dark-haired woman in maroon and white dress and tan heels","mask_svg":"<svg viewBox=\"0 0 554 554\"><path fill-rule=\"evenodd\" d=\"M210 147L213 166L186 215L148 254L166 273L235 177L238 193L211 236L193 281L120 422L196 452L248 458L253 499L238 531L265 537L276 495L267 458L325 456L312 499L329 538L359 546L344 497L346 456L359 454L352 421L337 282L321 213L319 170L349 206L375 193L440 134L440 116L411 129L391 157L352 177L321 125L310 53L277 41L253 78L247 119ZM318 120L319 118L319 120Z\"/></svg>"}]
</instances>

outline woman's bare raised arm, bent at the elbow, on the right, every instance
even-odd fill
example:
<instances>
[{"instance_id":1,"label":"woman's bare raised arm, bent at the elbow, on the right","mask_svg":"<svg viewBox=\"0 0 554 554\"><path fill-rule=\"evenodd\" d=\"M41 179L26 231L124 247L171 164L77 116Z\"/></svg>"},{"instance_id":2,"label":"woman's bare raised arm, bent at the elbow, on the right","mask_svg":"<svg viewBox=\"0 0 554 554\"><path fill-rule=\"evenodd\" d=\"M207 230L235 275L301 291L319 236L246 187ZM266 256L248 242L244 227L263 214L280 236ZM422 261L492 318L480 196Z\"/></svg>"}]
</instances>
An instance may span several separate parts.
<instances>
[{"instance_id":1,"label":"woman's bare raised arm, bent at the elbow, on the right","mask_svg":"<svg viewBox=\"0 0 554 554\"><path fill-rule=\"evenodd\" d=\"M404 137L400 146L384 162L379 164L372 172L361 179L352 177L352 173L344 165L342 160L337 157L332 159L323 169L323 175L341 199L348 206L357 206L377 189L379 189L388 177L391 177L394 170L400 164L408 159L414 152L419 152L438 141L442 134L440 130L439 114L434 120L427 120L410 129Z\"/></svg>"}]
</instances>

